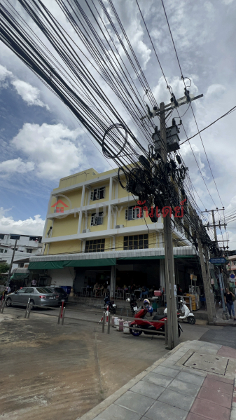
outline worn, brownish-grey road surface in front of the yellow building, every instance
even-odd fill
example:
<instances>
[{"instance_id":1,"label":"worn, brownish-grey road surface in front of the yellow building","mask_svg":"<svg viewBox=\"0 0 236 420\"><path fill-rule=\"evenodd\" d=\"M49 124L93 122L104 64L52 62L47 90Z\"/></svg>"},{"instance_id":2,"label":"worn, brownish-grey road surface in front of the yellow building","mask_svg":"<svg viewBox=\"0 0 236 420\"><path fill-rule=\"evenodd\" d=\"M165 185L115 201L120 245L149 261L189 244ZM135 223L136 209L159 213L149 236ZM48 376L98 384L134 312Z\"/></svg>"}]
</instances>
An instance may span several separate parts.
<instances>
[{"instance_id":1,"label":"worn, brownish-grey road surface in front of the yellow building","mask_svg":"<svg viewBox=\"0 0 236 420\"><path fill-rule=\"evenodd\" d=\"M102 334L101 309L67 307L74 319L65 318L63 326L57 325L59 309L32 311L29 319L24 313L6 308L0 317L0 419L76 420L167 353L164 337L132 337L113 328ZM180 341L235 348L232 330L183 324Z\"/></svg>"}]
</instances>

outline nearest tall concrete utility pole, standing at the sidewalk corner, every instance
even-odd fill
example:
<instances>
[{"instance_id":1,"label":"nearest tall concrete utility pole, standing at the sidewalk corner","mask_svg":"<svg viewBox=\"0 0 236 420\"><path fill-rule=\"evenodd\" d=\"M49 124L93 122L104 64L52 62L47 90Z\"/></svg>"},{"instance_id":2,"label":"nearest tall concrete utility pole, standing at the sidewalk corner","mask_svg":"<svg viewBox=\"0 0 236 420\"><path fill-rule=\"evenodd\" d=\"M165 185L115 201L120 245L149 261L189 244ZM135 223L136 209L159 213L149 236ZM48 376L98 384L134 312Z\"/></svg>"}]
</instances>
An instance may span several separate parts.
<instances>
[{"instance_id":1,"label":"nearest tall concrete utility pole, standing at the sidewalk corner","mask_svg":"<svg viewBox=\"0 0 236 420\"><path fill-rule=\"evenodd\" d=\"M160 137L162 139L161 156L167 162L167 135L165 126L165 104L160 104ZM169 205L169 203L165 203ZM174 254L172 241L172 226L169 215L163 217L165 242L165 292L167 295L168 316L168 348L172 349L179 344L178 320L176 311L176 298L174 296Z\"/></svg>"}]
</instances>

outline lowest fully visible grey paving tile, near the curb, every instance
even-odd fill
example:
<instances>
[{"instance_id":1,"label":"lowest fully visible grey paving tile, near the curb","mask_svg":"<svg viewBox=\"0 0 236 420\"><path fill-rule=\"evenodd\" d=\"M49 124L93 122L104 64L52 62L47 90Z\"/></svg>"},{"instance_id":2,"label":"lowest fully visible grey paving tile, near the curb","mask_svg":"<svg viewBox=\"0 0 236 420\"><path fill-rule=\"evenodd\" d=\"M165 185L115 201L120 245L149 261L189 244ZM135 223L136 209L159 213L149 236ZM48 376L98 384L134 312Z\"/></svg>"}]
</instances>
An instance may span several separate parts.
<instances>
[{"instance_id":1,"label":"lowest fully visible grey paving tile, near the curb","mask_svg":"<svg viewBox=\"0 0 236 420\"><path fill-rule=\"evenodd\" d=\"M114 404L130 409L138 414L144 414L147 409L153 405L153 402L155 402L153 398L148 398L144 395L140 395L132 391L127 391L120 398L118 398Z\"/></svg>"}]
</instances>

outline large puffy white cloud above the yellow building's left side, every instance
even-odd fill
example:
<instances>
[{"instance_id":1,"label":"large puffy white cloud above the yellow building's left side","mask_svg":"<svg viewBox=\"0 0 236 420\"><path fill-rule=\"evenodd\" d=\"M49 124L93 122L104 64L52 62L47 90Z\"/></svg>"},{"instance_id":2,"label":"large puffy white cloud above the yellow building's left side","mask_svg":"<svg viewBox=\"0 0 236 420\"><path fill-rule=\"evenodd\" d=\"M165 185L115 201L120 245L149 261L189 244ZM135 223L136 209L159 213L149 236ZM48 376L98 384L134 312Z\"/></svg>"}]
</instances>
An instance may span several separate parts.
<instances>
[{"instance_id":1,"label":"large puffy white cloud above the yellow building's left side","mask_svg":"<svg viewBox=\"0 0 236 420\"><path fill-rule=\"evenodd\" d=\"M62 124L26 123L11 143L34 161L38 177L58 179L76 168L89 167L83 145L77 140L80 134L80 129L69 130Z\"/></svg>"}]
</instances>

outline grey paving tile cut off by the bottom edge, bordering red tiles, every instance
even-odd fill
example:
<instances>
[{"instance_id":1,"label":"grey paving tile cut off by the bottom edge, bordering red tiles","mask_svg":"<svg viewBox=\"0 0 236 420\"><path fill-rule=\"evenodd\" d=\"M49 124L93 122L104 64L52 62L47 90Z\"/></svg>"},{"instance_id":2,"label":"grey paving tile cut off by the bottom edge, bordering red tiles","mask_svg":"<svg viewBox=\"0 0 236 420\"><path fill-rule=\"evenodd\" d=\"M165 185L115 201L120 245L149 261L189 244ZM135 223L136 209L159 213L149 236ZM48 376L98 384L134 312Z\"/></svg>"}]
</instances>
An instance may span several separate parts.
<instances>
[{"instance_id":1,"label":"grey paving tile cut off by the bottom edge, bordering red tiles","mask_svg":"<svg viewBox=\"0 0 236 420\"><path fill-rule=\"evenodd\" d=\"M142 419L151 419L151 420L185 420L188 412L179 409L177 407L172 407L172 405L165 404L160 401L154 402L153 406L148 409L145 416ZM124 420L126 420L124 418Z\"/></svg>"}]
</instances>

